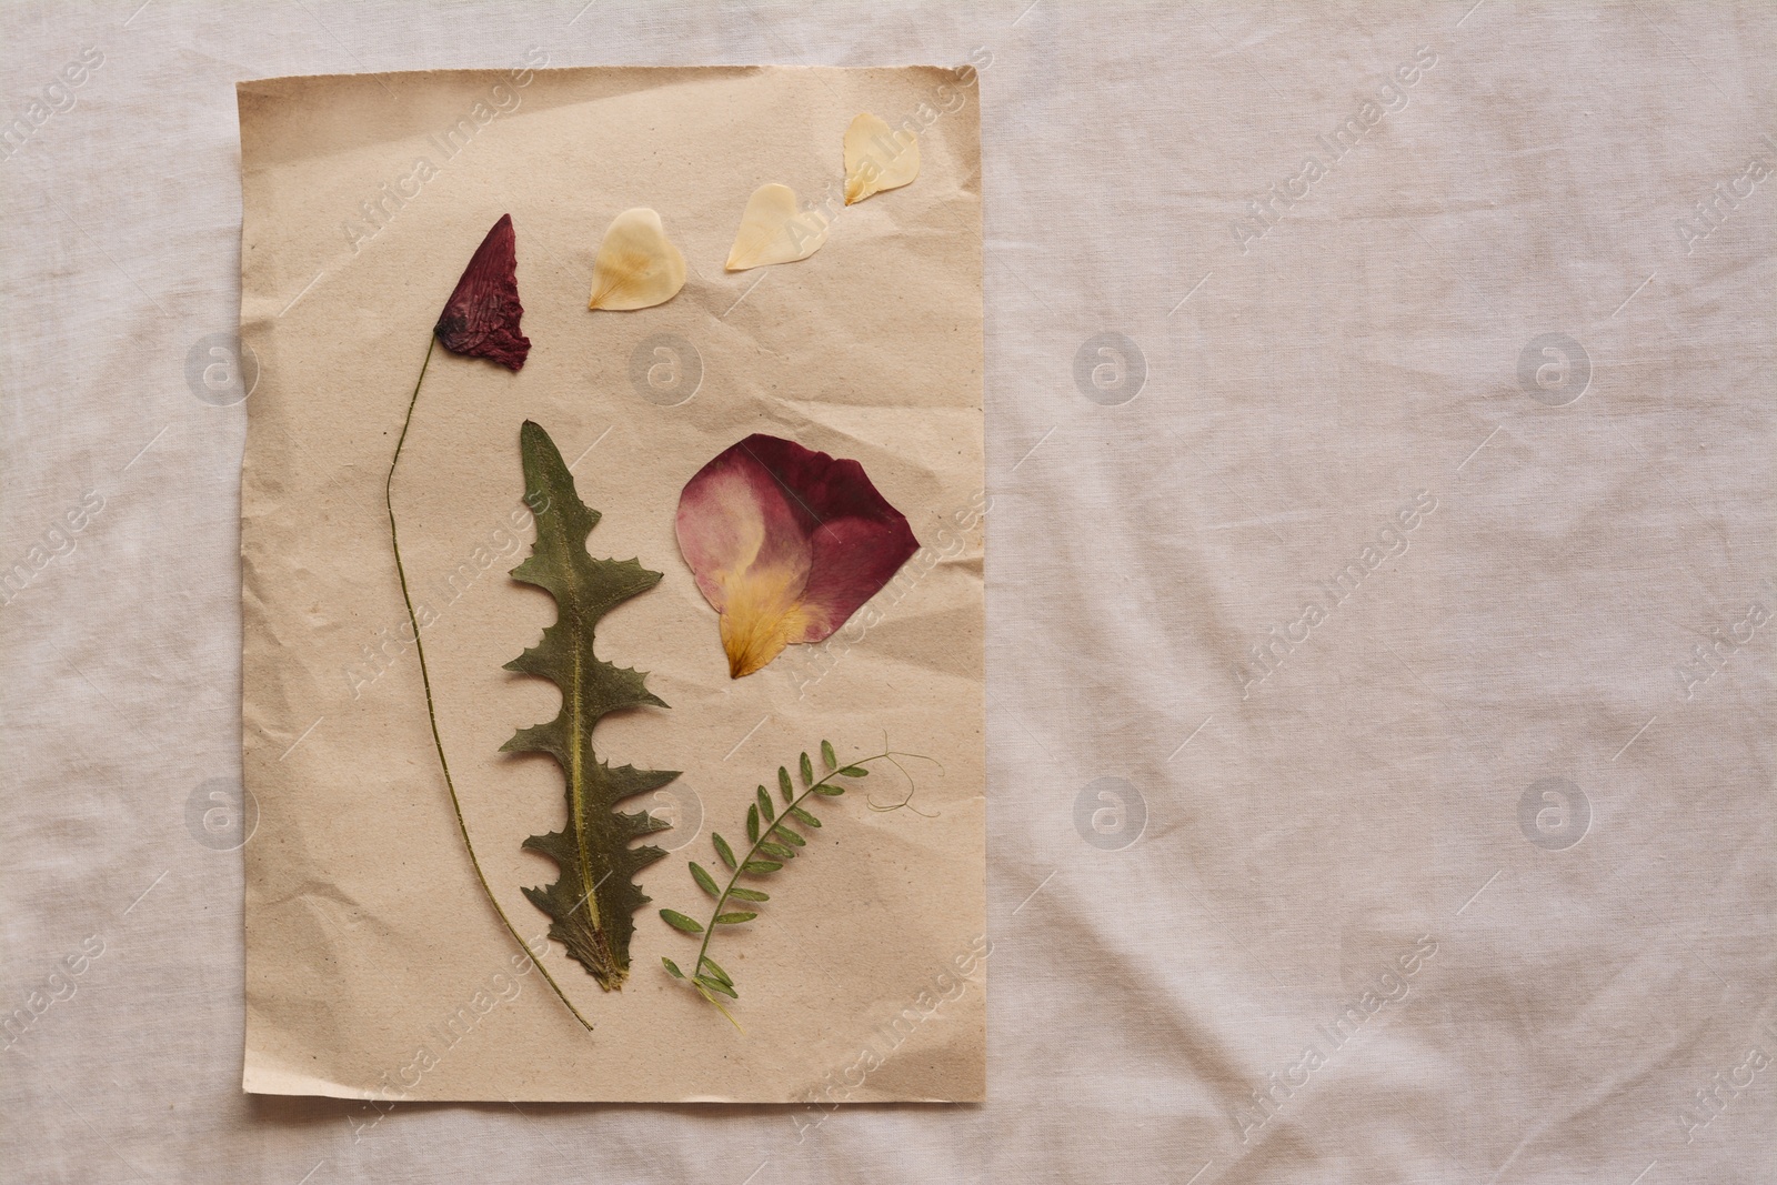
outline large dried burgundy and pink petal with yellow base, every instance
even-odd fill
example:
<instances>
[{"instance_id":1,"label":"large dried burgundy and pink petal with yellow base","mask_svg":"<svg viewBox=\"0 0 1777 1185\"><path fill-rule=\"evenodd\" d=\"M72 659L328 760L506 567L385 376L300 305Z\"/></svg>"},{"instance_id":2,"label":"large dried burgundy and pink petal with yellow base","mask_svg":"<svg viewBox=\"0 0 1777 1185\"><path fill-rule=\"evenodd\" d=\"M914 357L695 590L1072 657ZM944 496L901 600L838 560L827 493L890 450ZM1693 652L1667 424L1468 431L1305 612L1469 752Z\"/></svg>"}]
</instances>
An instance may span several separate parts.
<instances>
[{"instance_id":1,"label":"large dried burgundy and pink petal with yellow base","mask_svg":"<svg viewBox=\"0 0 1777 1185\"><path fill-rule=\"evenodd\" d=\"M732 679L828 638L919 549L864 465L757 433L686 481L677 531Z\"/></svg>"}]
</instances>

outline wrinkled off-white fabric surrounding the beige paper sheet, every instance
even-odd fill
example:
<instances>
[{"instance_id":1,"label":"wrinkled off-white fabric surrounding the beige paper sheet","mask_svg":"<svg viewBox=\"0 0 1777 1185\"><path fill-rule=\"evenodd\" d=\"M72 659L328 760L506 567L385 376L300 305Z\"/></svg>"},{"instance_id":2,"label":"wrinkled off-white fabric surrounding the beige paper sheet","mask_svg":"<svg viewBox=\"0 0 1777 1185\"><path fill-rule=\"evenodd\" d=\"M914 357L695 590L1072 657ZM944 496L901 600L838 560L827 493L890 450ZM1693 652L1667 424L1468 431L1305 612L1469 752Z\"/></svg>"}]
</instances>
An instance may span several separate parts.
<instances>
[{"instance_id":1,"label":"wrinkled off-white fabric surrounding the beige paper sheet","mask_svg":"<svg viewBox=\"0 0 1777 1185\"><path fill-rule=\"evenodd\" d=\"M1777 712L1743 625L1777 608L1777 179L1740 179L1777 165L1777 9L1025 5L7 9L9 119L105 55L0 163L0 560L32 569L0 609L7 1009L103 942L0 1054L9 1180L1777 1180ZM354 1137L350 1103L238 1093L240 855L188 803L240 769L243 409L185 375L238 313L233 82L533 44L992 53L984 1107L439 1105ZM1406 107L1242 251L1246 203L1422 46ZM1144 357L1127 403L1075 382L1098 332ZM1518 377L1542 334L1589 359L1566 405ZM1249 647L1422 489L1407 551L1242 698Z\"/></svg>"}]
</instances>

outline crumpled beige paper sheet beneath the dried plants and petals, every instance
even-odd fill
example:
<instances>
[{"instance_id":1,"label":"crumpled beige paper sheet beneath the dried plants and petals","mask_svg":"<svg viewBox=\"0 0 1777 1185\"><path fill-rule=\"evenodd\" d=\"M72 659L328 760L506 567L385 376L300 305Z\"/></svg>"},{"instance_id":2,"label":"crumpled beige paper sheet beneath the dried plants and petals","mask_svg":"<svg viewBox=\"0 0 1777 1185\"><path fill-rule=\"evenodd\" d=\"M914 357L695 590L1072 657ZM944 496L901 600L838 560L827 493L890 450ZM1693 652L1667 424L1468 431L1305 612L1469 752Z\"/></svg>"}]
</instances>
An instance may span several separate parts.
<instances>
[{"instance_id":1,"label":"crumpled beige paper sheet beneath the dried plants and petals","mask_svg":"<svg viewBox=\"0 0 1777 1185\"><path fill-rule=\"evenodd\" d=\"M922 172L835 211L810 259L723 261L768 181L841 192L858 112L912 117ZM984 1091L981 197L976 92L949 69L567 69L240 85L242 334L258 352L242 489L247 847L245 1089L409 1100L979 1100ZM425 162L421 165L419 162ZM588 313L599 238L652 206L689 281ZM643 871L633 974L604 993L544 956L581 1030L476 883L426 727L384 478L426 336L510 213L531 355L517 375L439 354L394 481L437 721L482 867L526 934L522 840L562 824L553 762L503 757L554 714L501 664L554 606L506 572L530 551L519 425L572 464L595 556L661 585L599 627L670 711L608 718L615 762L682 769ZM730 680L673 540L684 481L750 432L864 464L924 549L833 641ZM755 783L830 737L912 762L913 810L830 799L826 826L713 952L736 1032L661 970L707 913L686 858L745 831ZM904 783L869 778L878 805Z\"/></svg>"}]
</instances>

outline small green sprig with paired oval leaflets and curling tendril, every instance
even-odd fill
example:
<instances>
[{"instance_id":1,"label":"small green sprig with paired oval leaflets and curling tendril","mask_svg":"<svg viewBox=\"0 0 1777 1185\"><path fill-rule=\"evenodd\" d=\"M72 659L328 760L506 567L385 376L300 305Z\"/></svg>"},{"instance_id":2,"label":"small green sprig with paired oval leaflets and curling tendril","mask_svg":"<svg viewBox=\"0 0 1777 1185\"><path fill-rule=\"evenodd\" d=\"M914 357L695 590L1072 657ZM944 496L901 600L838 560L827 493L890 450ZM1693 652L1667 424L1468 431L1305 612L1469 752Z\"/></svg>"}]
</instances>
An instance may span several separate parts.
<instances>
[{"instance_id":1,"label":"small green sprig with paired oval leaflets and curling tendril","mask_svg":"<svg viewBox=\"0 0 1777 1185\"><path fill-rule=\"evenodd\" d=\"M809 808L809 799L839 798L844 794L846 787L835 782L835 778L867 776L867 766L878 760L887 760L899 767L896 757L915 755L885 750L881 753L873 753L871 757L860 757L841 764L839 757L833 753L833 746L828 741L821 741L821 764L826 767L826 773L821 778L816 778L814 762L807 753L803 753L796 762L798 773L801 775L800 792L796 791L796 782L791 778L789 767L778 766L777 782L778 794L784 799L782 810L773 805L769 791L761 785L753 796L753 803L746 808L746 839L750 840L750 846L745 853L736 855L734 847L729 840L721 839L720 831L709 833L709 842L716 849L716 856L729 869L729 883L718 885L709 869L700 865L697 860L689 862L691 879L716 901L709 913L709 922L698 922L697 919L686 917L677 910L661 910L661 920L673 929L691 936L704 936L702 945L697 949L697 961L691 963L691 974L686 975L677 963L668 958L661 958L661 963L666 966L666 974L682 981L707 1002L714 1004L716 1011L727 1016L730 1025L739 1029L741 1023L734 1020L734 1014L721 1004L721 997L737 1000L739 991L734 986L734 977L721 970L721 965L716 963L716 959L709 958L709 943L716 936L716 927L752 922L759 917L759 911L750 906L757 906L771 899L769 894L741 885L741 878L766 879L780 872L784 865L794 860L801 847L807 847L809 840L801 835L801 831L791 826L791 823L796 823L807 831L817 830L821 826L821 819ZM912 798L912 792L908 798ZM906 805L908 799L903 799L901 803L881 810L896 810ZM730 910L730 903L743 903L746 908Z\"/></svg>"}]
</instances>

